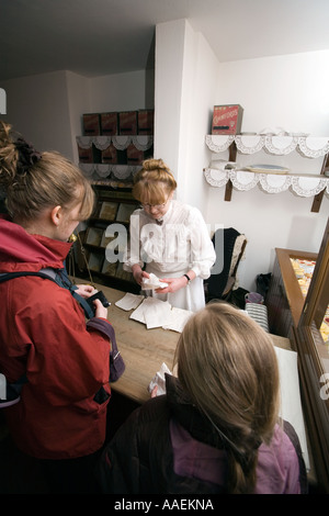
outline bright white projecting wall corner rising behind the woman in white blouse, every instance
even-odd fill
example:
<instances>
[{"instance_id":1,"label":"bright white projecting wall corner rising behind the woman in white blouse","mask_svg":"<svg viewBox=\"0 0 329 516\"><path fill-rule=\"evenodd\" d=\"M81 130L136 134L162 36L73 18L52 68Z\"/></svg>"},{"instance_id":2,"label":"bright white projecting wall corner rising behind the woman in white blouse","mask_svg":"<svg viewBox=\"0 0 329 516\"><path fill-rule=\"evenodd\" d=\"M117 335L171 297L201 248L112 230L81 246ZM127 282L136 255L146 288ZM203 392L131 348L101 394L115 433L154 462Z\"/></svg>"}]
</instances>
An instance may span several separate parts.
<instances>
[{"instance_id":1,"label":"bright white projecting wall corner rising behind the woman in white blouse","mask_svg":"<svg viewBox=\"0 0 329 516\"><path fill-rule=\"evenodd\" d=\"M186 20L161 23L156 31L155 156L178 181L178 199L206 211L202 169L218 61L201 33Z\"/></svg>"}]
</instances>

